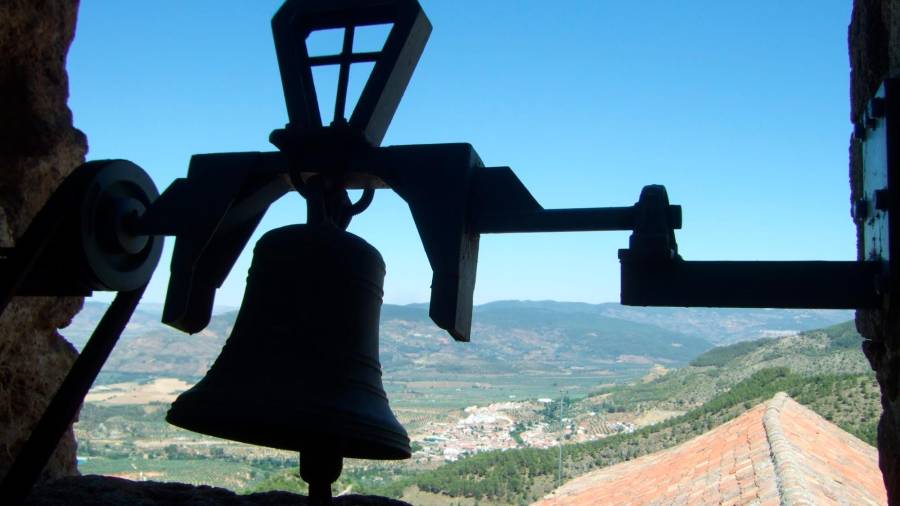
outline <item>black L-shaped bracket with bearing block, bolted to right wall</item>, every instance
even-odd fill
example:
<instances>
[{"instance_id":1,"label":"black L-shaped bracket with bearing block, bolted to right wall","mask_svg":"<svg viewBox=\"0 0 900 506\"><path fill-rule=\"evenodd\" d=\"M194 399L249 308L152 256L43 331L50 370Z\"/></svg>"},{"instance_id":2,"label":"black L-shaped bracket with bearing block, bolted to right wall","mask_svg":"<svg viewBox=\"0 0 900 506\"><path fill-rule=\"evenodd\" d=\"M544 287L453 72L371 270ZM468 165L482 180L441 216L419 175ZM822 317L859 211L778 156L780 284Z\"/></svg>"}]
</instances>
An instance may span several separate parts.
<instances>
[{"instance_id":1,"label":"black L-shaped bracket with bearing block, bolted to right wall","mask_svg":"<svg viewBox=\"0 0 900 506\"><path fill-rule=\"evenodd\" d=\"M886 308L898 279L897 177L900 160L900 81L885 81L853 135L862 177L853 203L861 223L863 259L825 262L685 261L663 209L665 190L642 194L642 216L628 249L619 251L623 304L634 306Z\"/></svg>"}]
</instances>

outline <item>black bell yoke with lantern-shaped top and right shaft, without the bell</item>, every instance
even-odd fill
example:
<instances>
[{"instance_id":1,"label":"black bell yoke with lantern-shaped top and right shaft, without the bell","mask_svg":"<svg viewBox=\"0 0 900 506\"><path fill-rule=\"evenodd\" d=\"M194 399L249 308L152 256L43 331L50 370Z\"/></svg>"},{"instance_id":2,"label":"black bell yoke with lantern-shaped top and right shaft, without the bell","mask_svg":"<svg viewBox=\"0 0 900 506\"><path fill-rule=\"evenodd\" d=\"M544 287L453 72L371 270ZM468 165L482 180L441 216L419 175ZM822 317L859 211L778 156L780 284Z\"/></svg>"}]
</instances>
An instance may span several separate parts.
<instances>
[{"instance_id":1,"label":"black bell yoke with lantern-shaped top and right shaft, without the bell","mask_svg":"<svg viewBox=\"0 0 900 506\"><path fill-rule=\"evenodd\" d=\"M355 28L388 23L392 28L381 51L352 51ZM188 177L175 181L138 225L143 233L177 237L163 311L169 325L202 330L216 288L269 204L292 188L305 193L317 177L369 195L391 188L409 204L433 271L431 318L460 341L471 333L480 234L633 230L645 214L641 203L544 209L509 167L485 167L469 144L379 146L431 32L415 0L288 0L272 28L290 119L270 137L280 151L195 155ZM309 34L334 28L344 29L340 54L310 57ZM345 119L345 76L363 61L374 62L372 73ZM340 66L334 121L328 125L312 78L318 65ZM663 213L669 226L681 226L678 206ZM170 216L187 219L173 223Z\"/></svg>"}]
</instances>

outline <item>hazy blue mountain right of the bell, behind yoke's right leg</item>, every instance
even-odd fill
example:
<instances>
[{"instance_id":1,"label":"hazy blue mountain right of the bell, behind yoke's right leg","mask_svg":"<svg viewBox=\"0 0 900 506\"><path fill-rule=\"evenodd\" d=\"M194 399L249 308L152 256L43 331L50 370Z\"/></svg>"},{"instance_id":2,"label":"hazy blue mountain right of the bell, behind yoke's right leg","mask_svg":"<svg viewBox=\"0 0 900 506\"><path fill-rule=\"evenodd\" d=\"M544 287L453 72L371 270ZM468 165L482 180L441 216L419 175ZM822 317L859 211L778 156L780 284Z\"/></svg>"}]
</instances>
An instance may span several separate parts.
<instances>
[{"instance_id":1,"label":"hazy blue mountain right of the bell, behind yoke's right leg","mask_svg":"<svg viewBox=\"0 0 900 506\"><path fill-rule=\"evenodd\" d=\"M616 362L684 364L710 348L705 339L596 313L486 304L475 309L470 343L454 342L425 306L386 305L385 368L476 373L608 368Z\"/></svg>"}]
</instances>

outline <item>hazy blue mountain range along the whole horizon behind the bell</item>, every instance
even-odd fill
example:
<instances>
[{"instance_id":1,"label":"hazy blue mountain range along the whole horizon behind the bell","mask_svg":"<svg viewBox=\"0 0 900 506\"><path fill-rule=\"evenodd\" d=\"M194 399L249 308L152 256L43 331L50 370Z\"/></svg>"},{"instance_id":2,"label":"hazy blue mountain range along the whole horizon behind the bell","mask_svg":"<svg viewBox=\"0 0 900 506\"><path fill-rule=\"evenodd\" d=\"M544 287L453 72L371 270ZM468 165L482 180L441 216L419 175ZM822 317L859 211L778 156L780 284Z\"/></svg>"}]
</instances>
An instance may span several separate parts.
<instances>
[{"instance_id":1,"label":"hazy blue mountain range along the whole horizon behind the bell","mask_svg":"<svg viewBox=\"0 0 900 506\"><path fill-rule=\"evenodd\" d=\"M89 301L63 331L77 347L106 304ZM158 304L142 305L106 371L197 377L231 332L236 311L215 314L188 336L160 323ZM477 306L472 342L454 342L428 317L427 304L382 308L381 361L411 373L528 373L596 370L616 364L680 366L709 349L759 335L778 335L849 318L846 311L634 308L618 304L499 301Z\"/></svg>"}]
</instances>

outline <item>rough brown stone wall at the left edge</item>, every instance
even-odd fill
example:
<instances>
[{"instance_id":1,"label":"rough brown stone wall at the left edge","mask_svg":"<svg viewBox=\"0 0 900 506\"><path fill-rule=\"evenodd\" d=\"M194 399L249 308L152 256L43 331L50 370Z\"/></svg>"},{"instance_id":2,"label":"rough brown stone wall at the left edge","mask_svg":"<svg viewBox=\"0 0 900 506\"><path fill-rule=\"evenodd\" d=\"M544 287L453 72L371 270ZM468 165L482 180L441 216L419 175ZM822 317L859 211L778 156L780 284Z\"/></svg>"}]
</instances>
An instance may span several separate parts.
<instances>
[{"instance_id":1,"label":"rough brown stone wall at the left edge","mask_svg":"<svg viewBox=\"0 0 900 506\"><path fill-rule=\"evenodd\" d=\"M77 0L0 1L0 246L15 245L60 181L84 161L72 126L66 53ZM0 317L0 477L77 353L59 335L81 298L17 298ZM77 474L64 436L43 478Z\"/></svg>"}]
</instances>

